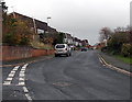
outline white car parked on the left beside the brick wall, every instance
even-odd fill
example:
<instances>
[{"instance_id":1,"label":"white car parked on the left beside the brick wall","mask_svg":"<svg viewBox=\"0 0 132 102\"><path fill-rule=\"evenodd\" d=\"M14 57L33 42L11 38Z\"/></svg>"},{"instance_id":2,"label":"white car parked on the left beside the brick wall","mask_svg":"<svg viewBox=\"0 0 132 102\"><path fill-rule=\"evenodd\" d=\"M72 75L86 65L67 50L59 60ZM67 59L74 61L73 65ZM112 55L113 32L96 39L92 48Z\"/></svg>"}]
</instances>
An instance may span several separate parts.
<instances>
[{"instance_id":1,"label":"white car parked on the left beside the brick wall","mask_svg":"<svg viewBox=\"0 0 132 102\"><path fill-rule=\"evenodd\" d=\"M55 57L61 55L72 56L72 48L67 44L56 44Z\"/></svg>"}]
</instances>

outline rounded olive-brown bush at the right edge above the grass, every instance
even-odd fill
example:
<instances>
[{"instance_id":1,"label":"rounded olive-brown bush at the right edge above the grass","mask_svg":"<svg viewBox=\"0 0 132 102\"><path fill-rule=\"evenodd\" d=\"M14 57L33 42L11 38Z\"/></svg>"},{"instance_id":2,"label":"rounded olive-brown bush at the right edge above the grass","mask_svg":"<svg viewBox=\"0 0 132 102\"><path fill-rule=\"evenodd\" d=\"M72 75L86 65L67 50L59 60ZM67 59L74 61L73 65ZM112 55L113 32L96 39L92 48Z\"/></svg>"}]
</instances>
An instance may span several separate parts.
<instances>
[{"instance_id":1,"label":"rounded olive-brown bush at the right edge above the grass","mask_svg":"<svg viewBox=\"0 0 132 102\"><path fill-rule=\"evenodd\" d=\"M121 49L121 54L124 57L129 57L132 54L132 44L123 44L122 49Z\"/></svg>"}]
</instances>

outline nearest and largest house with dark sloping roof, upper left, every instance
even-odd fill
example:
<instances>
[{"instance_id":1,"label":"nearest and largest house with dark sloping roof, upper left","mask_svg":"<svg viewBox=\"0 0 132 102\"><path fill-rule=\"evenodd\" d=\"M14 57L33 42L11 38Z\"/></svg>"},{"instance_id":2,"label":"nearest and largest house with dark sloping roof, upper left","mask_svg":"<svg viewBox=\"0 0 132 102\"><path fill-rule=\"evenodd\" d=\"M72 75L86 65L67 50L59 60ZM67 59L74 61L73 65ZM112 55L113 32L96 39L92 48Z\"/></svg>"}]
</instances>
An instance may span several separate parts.
<instances>
[{"instance_id":1,"label":"nearest and largest house with dark sloping roof, upper left","mask_svg":"<svg viewBox=\"0 0 132 102\"><path fill-rule=\"evenodd\" d=\"M31 27L31 31L33 31L36 35L33 35L33 39L40 39L42 37L42 34L44 33L57 33L56 29L53 29L51 26L47 26L47 23L13 12L10 15L14 19L19 19L21 21L24 21L28 23L28 25Z\"/></svg>"}]
</instances>

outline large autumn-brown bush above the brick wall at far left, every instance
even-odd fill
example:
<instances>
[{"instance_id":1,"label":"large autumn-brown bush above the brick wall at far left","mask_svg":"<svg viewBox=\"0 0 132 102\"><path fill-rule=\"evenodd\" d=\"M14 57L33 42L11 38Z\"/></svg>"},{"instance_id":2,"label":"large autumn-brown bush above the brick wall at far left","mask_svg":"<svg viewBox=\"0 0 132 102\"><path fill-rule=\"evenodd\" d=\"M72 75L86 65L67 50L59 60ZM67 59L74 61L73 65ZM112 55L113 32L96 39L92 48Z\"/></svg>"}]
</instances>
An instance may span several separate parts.
<instances>
[{"instance_id":1,"label":"large autumn-brown bush above the brick wall at far left","mask_svg":"<svg viewBox=\"0 0 132 102\"><path fill-rule=\"evenodd\" d=\"M2 43L8 45L29 45L34 32L28 22L13 19L10 15L3 18Z\"/></svg>"}]
</instances>

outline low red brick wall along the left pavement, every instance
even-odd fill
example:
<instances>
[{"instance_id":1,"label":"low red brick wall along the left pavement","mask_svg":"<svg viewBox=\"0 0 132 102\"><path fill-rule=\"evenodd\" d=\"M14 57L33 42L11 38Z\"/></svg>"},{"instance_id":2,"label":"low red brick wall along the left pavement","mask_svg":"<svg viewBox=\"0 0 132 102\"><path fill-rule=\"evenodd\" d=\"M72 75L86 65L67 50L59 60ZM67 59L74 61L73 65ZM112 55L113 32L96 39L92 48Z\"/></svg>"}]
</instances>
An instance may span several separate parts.
<instances>
[{"instance_id":1,"label":"low red brick wall along the left pavement","mask_svg":"<svg viewBox=\"0 0 132 102\"><path fill-rule=\"evenodd\" d=\"M34 49L31 47L2 46L2 60L23 59L37 56L53 55L54 50Z\"/></svg>"}]
</instances>

